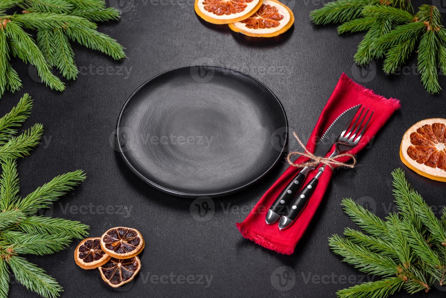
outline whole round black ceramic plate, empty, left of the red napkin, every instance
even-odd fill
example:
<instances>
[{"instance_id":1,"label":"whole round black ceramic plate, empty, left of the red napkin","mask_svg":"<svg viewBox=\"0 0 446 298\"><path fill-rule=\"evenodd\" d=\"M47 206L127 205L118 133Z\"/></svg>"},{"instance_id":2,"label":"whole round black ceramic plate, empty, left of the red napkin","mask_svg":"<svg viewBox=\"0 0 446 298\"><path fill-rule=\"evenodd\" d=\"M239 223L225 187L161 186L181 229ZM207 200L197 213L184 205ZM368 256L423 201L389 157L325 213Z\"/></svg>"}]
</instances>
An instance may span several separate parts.
<instances>
[{"instance_id":1,"label":"whole round black ceramic plate, empty, left of the red napkin","mask_svg":"<svg viewBox=\"0 0 446 298\"><path fill-rule=\"evenodd\" d=\"M129 97L116 135L124 161L145 182L182 197L217 197L256 182L277 163L287 126L277 97L252 76L184 66Z\"/></svg>"}]
</instances>

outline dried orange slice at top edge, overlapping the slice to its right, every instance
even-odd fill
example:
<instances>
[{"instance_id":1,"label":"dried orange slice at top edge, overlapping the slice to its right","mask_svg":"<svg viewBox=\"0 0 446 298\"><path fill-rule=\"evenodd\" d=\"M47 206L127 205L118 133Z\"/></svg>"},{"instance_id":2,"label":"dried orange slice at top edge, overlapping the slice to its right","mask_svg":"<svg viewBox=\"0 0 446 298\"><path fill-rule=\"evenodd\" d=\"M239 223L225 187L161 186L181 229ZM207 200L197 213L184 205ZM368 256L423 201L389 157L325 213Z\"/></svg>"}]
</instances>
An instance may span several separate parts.
<instances>
[{"instance_id":1,"label":"dried orange slice at top edge, overlapping the slice to its right","mask_svg":"<svg viewBox=\"0 0 446 298\"><path fill-rule=\"evenodd\" d=\"M195 0L195 12L213 24L229 24L251 16L262 0Z\"/></svg>"}]
</instances>

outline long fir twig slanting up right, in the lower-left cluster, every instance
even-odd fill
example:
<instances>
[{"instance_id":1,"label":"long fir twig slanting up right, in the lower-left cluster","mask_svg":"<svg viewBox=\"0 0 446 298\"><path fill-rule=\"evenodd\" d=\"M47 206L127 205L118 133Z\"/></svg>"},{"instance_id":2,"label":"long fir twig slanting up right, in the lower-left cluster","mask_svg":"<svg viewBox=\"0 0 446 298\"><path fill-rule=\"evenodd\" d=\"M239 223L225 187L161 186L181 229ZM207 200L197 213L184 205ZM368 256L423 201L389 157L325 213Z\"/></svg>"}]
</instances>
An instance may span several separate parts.
<instances>
[{"instance_id":1,"label":"long fir twig slanting up right, in the lower-left cluster","mask_svg":"<svg viewBox=\"0 0 446 298\"><path fill-rule=\"evenodd\" d=\"M43 186L37 187L36 190L17 202L15 207L26 214L33 214L40 208L47 208L49 203L72 190L73 186L78 185L85 178L86 176L81 170L59 175Z\"/></svg>"}]
</instances>

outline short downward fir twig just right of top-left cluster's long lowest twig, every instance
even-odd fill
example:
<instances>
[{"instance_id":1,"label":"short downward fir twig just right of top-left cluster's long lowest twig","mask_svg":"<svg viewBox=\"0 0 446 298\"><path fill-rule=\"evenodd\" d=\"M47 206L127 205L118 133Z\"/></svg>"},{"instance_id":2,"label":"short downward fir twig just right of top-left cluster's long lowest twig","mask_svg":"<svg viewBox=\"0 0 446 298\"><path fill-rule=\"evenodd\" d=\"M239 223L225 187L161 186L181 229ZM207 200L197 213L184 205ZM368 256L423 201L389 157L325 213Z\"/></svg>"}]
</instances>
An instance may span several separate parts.
<instances>
[{"instance_id":1,"label":"short downward fir twig just right of top-left cluster's long lowest twig","mask_svg":"<svg viewBox=\"0 0 446 298\"><path fill-rule=\"evenodd\" d=\"M61 70L66 79L76 79L79 70L74 62L74 52L68 37L62 32L62 29L54 29L52 37L53 44L58 48L54 51L54 66Z\"/></svg>"}]
</instances>

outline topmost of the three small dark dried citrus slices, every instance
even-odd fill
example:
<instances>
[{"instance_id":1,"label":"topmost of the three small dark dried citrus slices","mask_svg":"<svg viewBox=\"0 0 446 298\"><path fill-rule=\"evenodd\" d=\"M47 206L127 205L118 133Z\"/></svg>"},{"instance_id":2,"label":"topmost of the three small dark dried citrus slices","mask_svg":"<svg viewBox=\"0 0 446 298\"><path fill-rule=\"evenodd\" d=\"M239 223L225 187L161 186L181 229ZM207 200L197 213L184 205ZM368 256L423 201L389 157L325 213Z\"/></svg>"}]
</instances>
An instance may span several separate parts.
<instances>
[{"instance_id":1,"label":"topmost of the three small dark dried citrus slices","mask_svg":"<svg viewBox=\"0 0 446 298\"><path fill-rule=\"evenodd\" d=\"M142 251L144 239L141 233L133 228L111 228L101 237L101 248L114 258L126 259L134 257Z\"/></svg>"}]
</instances>

